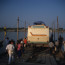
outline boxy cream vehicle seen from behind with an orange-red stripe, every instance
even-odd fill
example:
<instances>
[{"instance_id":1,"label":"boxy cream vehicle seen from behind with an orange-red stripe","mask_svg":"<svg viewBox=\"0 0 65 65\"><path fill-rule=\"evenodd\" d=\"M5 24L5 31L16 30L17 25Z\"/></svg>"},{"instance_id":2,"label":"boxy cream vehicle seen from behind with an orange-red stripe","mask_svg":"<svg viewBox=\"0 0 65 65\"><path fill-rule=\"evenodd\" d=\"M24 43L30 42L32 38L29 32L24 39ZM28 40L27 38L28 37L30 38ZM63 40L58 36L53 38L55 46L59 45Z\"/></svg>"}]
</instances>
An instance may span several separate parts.
<instances>
[{"instance_id":1,"label":"boxy cream vehicle seen from behind with an orange-red stripe","mask_svg":"<svg viewBox=\"0 0 65 65\"><path fill-rule=\"evenodd\" d=\"M28 26L27 41L35 46L48 47L49 27L45 24Z\"/></svg>"}]
</instances>

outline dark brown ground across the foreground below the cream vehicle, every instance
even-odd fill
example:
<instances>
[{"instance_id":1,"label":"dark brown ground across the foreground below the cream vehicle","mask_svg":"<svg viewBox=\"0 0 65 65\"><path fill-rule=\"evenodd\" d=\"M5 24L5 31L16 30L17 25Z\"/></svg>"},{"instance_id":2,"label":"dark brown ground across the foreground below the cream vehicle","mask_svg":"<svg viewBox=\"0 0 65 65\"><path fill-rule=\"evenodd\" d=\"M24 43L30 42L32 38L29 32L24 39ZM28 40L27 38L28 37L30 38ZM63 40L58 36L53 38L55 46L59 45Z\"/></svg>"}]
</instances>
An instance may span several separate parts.
<instances>
[{"instance_id":1,"label":"dark brown ground across the foreground below the cream vehicle","mask_svg":"<svg viewBox=\"0 0 65 65\"><path fill-rule=\"evenodd\" d=\"M60 58L60 53L50 54L48 48L25 48L24 54L18 59L15 54L15 61L10 65L65 65L64 58ZM0 55L0 65L8 64L8 55Z\"/></svg>"}]
</instances>

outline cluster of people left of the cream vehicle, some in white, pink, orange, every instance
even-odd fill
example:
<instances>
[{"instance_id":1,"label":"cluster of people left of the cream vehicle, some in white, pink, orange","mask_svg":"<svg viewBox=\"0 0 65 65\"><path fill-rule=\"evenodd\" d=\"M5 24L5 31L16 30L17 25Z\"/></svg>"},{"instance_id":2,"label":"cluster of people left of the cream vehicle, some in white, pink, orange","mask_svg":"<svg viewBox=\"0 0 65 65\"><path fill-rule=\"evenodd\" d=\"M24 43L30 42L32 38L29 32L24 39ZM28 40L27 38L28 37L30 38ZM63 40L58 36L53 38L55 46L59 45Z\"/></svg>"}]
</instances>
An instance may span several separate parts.
<instances>
[{"instance_id":1,"label":"cluster of people left of the cream vehicle, some in white, pink, orange","mask_svg":"<svg viewBox=\"0 0 65 65\"><path fill-rule=\"evenodd\" d=\"M27 39L25 38L24 40L17 40L17 43L15 44L15 41L10 40L7 38L7 46L6 46L6 51L8 53L9 59L8 59L8 64L14 62L14 54L17 55L17 58L20 59L22 53L24 53L24 48L27 45Z\"/></svg>"}]
</instances>

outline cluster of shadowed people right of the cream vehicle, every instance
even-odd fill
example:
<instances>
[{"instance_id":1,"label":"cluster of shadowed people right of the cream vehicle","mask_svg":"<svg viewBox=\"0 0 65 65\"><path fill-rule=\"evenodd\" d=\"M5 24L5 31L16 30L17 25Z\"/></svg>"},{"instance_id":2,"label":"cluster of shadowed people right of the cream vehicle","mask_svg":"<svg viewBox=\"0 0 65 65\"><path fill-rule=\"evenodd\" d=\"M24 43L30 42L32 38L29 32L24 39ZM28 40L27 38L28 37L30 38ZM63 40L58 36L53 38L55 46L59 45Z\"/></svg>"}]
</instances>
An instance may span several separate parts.
<instances>
[{"instance_id":1,"label":"cluster of shadowed people right of the cream vehicle","mask_svg":"<svg viewBox=\"0 0 65 65\"><path fill-rule=\"evenodd\" d=\"M53 41L53 37L51 37L49 43L50 52L58 53L62 49L62 46L64 46L64 44L65 43L61 35L59 36L58 41Z\"/></svg>"}]
</instances>

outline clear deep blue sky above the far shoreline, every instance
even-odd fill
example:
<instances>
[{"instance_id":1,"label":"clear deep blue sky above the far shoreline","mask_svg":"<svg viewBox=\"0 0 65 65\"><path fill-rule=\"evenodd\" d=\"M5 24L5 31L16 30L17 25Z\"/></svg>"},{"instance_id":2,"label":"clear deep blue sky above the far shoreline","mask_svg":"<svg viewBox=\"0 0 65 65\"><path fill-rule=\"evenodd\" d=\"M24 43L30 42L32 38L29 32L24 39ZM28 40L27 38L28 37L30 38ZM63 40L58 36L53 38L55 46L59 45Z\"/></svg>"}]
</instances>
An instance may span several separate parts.
<instances>
[{"instance_id":1,"label":"clear deep blue sky above the far shoreline","mask_svg":"<svg viewBox=\"0 0 65 65\"><path fill-rule=\"evenodd\" d=\"M65 0L0 0L0 27L19 27L43 21L49 27L65 28Z\"/></svg>"}]
</instances>

